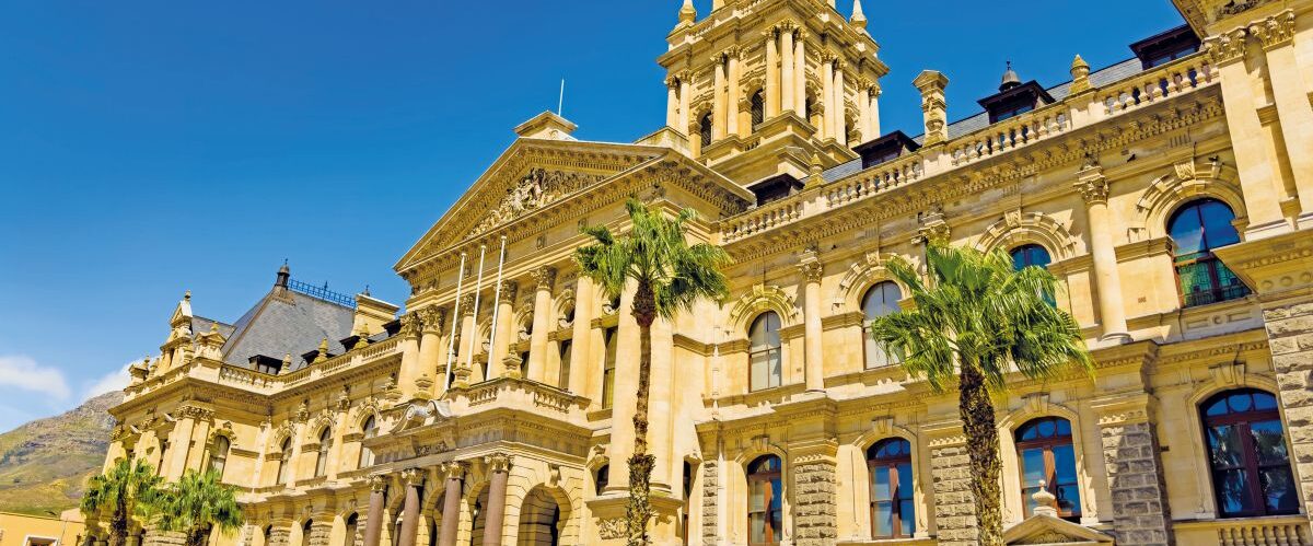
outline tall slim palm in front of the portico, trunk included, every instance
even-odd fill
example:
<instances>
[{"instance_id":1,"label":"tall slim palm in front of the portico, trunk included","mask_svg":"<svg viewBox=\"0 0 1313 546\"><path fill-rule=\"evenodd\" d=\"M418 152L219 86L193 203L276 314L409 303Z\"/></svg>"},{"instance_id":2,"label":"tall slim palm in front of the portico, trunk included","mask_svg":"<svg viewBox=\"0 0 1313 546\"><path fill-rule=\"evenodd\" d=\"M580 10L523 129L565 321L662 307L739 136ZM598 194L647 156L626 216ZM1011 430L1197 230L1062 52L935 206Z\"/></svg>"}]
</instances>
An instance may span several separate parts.
<instances>
[{"instance_id":1,"label":"tall slim palm in front of the portico, trunk included","mask_svg":"<svg viewBox=\"0 0 1313 546\"><path fill-rule=\"evenodd\" d=\"M617 298L634 284L630 314L638 323L638 403L634 411L634 454L629 458L629 505L625 509L628 545L646 545L651 503L647 499L655 458L647 454L647 391L651 377L651 326L658 316L672 319L689 311L702 298L722 299L729 294L721 268L730 257L720 247L688 244L688 222L697 218L691 209L675 218L649 209L638 200L625 202L629 231L616 236L605 226L584 228L596 244L575 251L583 276L597 282L609 298Z\"/></svg>"}]
</instances>

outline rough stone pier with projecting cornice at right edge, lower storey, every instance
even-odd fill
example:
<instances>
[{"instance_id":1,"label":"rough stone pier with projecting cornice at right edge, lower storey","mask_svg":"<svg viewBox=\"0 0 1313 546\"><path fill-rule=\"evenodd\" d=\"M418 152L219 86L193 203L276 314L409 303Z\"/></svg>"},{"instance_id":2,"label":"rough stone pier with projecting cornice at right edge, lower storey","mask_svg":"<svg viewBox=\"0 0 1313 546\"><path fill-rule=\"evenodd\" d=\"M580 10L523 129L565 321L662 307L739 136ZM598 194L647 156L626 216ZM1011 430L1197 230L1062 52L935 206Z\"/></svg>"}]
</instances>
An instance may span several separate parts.
<instances>
[{"instance_id":1,"label":"rough stone pier with projecting cornice at right edge, lower storey","mask_svg":"<svg viewBox=\"0 0 1313 546\"><path fill-rule=\"evenodd\" d=\"M1217 256L1263 307L1295 480L1304 513L1313 513L1313 230L1218 248Z\"/></svg>"}]
</instances>

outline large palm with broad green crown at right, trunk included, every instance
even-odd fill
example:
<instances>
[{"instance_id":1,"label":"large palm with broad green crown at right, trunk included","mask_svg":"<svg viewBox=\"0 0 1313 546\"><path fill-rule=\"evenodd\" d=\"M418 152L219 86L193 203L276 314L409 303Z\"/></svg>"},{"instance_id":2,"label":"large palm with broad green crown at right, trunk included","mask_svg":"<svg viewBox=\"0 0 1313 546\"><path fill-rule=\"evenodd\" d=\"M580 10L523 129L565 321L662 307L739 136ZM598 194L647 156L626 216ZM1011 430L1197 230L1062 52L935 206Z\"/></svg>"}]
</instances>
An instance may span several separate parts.
<instances>
[{"instance_id":1,"label":"large palm with broad green crown at right, trunk included","mask_svg":"<svg viewBox=\"0 0 1313 546\"><path fill-rule=\"evenodd\" d=\"M1001 466L990 394L1007 390L1011 371L1032 379L1053 377L1065 366L1090 373L1090 353L1075 319L1048 303L1057 280L1046 269L1015 270L1002 251L940 244L927 247L926 262L926 277L901 257L888 264L915 304L876 319L872 336L932 390L941 392L957 382L978 543L999 546Z\"/></svg>"}]
</instances>

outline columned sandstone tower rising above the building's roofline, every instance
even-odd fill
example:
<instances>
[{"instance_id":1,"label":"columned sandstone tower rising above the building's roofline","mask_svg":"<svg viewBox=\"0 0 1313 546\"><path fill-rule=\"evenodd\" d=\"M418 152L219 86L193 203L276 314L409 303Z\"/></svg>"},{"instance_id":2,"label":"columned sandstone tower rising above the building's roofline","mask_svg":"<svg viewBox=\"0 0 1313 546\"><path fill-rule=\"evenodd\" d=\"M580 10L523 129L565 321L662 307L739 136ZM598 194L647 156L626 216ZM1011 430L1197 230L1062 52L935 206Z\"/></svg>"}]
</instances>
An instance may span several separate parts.
<instances>
[{"instance_id":1,"label":"columned sandstone tower rising above the building's roofline","mask_svg":"<svg viewBox=\"0 0 1313 546\"><path fill-rule=\"evenodd\" d=\"M658 58L666 68L666 125L693 158L739 184L802 178L813 158L831 167L880 136L880 46L861 0L714 0L699 20L684 0Z\"/></svg>"}]
</instances>

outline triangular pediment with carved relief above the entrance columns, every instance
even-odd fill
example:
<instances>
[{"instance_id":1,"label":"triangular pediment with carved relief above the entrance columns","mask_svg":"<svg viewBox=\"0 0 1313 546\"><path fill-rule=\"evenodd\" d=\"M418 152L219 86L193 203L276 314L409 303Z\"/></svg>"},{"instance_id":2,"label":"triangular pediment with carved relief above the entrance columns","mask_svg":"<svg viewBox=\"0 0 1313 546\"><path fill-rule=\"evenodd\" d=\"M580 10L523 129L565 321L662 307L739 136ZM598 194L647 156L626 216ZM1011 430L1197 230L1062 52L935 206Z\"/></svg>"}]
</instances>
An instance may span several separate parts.
<instances>
[{"instance_id":1,"label":"triangular pediment with carved relief above the entrance columns","mask_svg":"<svg viewBox=\"0 0 1313 546\"><path fill-rule=\"evenodd\" d=\"M395 265L398 272L666 152L637 144L516 139Z\"/></svg>"}]
</instances>

